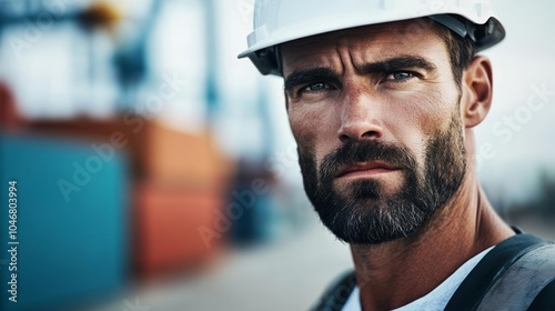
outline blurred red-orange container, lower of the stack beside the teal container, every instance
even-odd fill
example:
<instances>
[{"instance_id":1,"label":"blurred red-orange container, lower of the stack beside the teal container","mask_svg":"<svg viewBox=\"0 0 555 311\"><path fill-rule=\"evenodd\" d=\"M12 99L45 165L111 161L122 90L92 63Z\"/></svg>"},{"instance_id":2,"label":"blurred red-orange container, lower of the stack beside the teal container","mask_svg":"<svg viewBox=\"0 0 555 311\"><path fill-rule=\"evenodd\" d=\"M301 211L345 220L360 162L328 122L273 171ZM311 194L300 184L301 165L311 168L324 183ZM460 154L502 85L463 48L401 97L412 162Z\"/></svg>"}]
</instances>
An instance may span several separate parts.
<instances>
[{"instance_id":1,"label":"blurred red-orange container, lower of the stack beside the teal container","mask_svg":"<svg viewBox=\"0 0 555 311\"><path fill-rule=\"evenodd\" d=\"M135 267L144 277L184 271L203 264L214 251L199 228L212 228L224 204L218 188L185 189L142 184L135 191Z\"/></svg>"}]
</instances>

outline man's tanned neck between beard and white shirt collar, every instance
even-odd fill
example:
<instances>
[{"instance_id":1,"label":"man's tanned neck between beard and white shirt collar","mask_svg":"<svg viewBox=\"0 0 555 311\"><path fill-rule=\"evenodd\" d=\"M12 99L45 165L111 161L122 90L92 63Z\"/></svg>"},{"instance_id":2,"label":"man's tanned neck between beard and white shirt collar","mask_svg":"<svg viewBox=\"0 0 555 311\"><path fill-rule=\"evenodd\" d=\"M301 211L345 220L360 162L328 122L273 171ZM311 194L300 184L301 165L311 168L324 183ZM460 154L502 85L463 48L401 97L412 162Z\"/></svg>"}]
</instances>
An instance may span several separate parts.
<instances>
[{"instance_id":1,"label":"man's tanned neck between beard and white shirt collar","mask_svg":"<svg viewBox=\"0 0 555 311\"><path fill-rule=\"evenodd\" d=\"M425 295L465 261L513 234L468 170L457 193L415 237L351 245L363 310L391 310Z\"/></svg>"}]
</instances>

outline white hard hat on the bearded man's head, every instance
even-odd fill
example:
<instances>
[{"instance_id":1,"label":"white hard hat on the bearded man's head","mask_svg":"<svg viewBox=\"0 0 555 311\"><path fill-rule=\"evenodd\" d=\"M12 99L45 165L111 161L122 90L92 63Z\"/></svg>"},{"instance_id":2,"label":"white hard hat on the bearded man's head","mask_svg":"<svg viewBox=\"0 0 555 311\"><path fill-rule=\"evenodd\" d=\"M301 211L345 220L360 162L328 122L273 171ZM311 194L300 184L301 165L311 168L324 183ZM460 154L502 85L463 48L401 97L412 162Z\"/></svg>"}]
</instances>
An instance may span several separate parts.
<instances>
[{"instance_id":1,"label":"white hard hat on the bearded man's head","mask_svg":"<svg viewBox=\"0 0 555 311\"><path fill-rule=\"evenodd\" d=\"M330 31L430 17L478 51L498 43L505 30L492 0L255 0L254 31L239 58L250 58L262 74L281 76L278 44Z\"/></svg>"}]
</instances>

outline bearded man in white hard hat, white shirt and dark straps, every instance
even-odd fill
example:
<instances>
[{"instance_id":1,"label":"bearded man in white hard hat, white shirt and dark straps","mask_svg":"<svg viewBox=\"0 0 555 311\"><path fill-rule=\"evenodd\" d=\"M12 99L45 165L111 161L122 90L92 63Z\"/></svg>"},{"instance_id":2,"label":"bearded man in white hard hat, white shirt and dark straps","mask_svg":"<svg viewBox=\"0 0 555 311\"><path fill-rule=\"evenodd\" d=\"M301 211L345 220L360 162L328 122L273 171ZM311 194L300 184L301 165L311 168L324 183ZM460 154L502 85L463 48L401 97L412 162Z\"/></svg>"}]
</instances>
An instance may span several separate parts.
<instances>
[{"instance_id":1,"label":"bearded man in white hard hat, white shirt and dark straps","mask_svg":"<svg viewBox=\"0 0 555 311\"><path fill-rule=\"evenodd\" d=\"M555 247L495 213L473 128L502 24L476 1L259 1L249 57L284 79L304 188L355 272L316 310L554 310ZM463 2L463 3L461 3Z\"/></svg>"}]
</instances>

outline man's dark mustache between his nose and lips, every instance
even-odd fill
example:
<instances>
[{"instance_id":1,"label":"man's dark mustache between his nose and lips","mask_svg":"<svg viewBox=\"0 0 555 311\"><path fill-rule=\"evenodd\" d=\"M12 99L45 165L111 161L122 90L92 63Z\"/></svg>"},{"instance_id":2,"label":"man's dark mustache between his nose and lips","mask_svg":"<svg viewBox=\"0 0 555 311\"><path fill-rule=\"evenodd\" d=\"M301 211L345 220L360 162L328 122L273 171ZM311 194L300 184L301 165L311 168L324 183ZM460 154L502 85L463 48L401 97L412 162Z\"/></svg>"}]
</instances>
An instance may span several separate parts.
<instances>
[{"instance_id":1,"label":"man's dark mustache between his nose and lips","mask_svg":"<svg viewBox=\"0 0 555 311\"><path fill-rule=\"evenodd\" d=\"M324 157L320 167L320 175L333 178L346 165L369 161L383 161L404 170L414 170L416 161L404 147L376 140L347 142L334 152Z\"/></svg>"}]
</instances>

